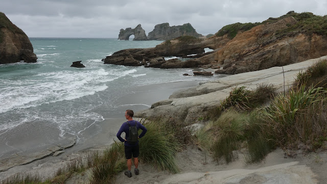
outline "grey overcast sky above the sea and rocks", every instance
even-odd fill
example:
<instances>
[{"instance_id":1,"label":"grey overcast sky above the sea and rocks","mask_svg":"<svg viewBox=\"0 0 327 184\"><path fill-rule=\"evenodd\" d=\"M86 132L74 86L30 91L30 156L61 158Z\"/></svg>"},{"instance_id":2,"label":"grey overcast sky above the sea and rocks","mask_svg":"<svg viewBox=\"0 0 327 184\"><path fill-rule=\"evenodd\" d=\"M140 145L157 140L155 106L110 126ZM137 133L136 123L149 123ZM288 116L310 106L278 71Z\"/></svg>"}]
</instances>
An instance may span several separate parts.
<instances>
[{"instance_id":1,"label":"grey overcast sky above the sea and rocks","mask_svg":"<svg viewBox=\"0 0 327 184\"><path fill-rule=\"evenodd\" d=\"M294 10L327 14L326 0L1 0L0 11L29 37L118 38L138 24L191 25L216 33L236 22L261 22Z\"/></svg>"}]
</instances>

